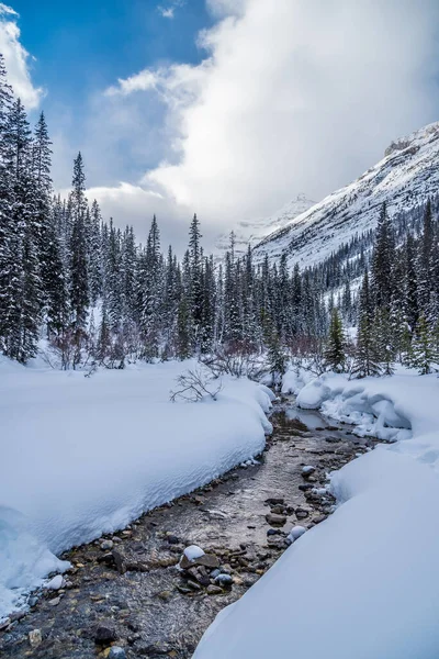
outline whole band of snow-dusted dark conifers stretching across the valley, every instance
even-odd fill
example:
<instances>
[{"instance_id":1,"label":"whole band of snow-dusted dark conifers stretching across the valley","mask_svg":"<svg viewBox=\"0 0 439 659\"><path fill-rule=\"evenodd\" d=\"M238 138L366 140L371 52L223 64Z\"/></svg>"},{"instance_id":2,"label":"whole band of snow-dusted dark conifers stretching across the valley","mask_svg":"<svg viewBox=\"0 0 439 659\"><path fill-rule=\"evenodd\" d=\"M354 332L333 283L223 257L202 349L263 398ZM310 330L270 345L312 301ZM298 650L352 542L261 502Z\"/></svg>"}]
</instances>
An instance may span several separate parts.
<instances>
[{"instance_id":1,"label":"whole band of snow-dusted dark conifers stretching across the valley","mask_svg":"<svg viewBox=\"0 0 439 659\"><path fill-rule=\"evenodd\" d=\"M273 371L292 354L358 377L391 372L397 360L429 372L438 360L430 202L393 221L384 204L376 231L290 271L286 254L255 264L249 247L238 258L233 233L215 261L196 214L181 260L171 246L162 252L156 216L139 244L132 226L105 222L89 203L80 153L67 199L54 194L50 168L45 116L31 131L0 56L0 349L12 359L25 364L45 345L63 368L122 368L221 347L268 353ZM346 332L353 325L357 339Z\"/></svg>"}]
</instances>

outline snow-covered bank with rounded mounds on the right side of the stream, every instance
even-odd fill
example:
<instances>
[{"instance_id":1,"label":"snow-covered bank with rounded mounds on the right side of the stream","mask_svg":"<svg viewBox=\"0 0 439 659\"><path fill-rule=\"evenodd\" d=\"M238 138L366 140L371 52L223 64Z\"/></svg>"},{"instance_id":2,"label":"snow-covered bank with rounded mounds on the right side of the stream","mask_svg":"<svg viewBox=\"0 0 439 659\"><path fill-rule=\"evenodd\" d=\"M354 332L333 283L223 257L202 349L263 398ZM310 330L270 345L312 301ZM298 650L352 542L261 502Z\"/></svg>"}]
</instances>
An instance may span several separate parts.
<instances>
[{"instance_id":1,"label":"snow-covered bank with rounded mounds on the right side of the stream","mask_svg":"<svg viewBox=\"0 0 439 659\"><path fill-rule=\"evenodd\" d=\"M290 372L284 387L304 380ZM439 656L438 400L435 376L324 376L303 387L304 407L392 443L333 474L334 515L217 616L194 659Z\"/></svg>"}]
</instances>

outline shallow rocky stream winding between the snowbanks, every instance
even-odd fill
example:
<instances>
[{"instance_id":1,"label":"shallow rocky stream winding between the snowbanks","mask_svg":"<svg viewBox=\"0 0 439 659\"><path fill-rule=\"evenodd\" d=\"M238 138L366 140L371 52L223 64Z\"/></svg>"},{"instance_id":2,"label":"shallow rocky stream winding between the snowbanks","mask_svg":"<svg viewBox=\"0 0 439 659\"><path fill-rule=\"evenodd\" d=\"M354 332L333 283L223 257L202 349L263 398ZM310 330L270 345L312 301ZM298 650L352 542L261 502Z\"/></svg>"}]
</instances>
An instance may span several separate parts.
<instances>
[{"instance_id":1,"label":"shallow rocky stream winding between the snowbanks","mask_svg":"<svg viewBox=\"0 0 439 659\"><path fill-rule=\"evenodd\" d=\"M257 463L63 555L72 569L61 588L33 593L30 611L0 630L2 659L192 657L216 614L288 548L290 529L311 528L333 512L331 496L316 493L326 474L374 444L299 410L293 396L275 404L271 422ZM305 465L315 467L307 477ZM189 545L202 547L210 565L181 570Z\"/></svg>"}]
</instances>

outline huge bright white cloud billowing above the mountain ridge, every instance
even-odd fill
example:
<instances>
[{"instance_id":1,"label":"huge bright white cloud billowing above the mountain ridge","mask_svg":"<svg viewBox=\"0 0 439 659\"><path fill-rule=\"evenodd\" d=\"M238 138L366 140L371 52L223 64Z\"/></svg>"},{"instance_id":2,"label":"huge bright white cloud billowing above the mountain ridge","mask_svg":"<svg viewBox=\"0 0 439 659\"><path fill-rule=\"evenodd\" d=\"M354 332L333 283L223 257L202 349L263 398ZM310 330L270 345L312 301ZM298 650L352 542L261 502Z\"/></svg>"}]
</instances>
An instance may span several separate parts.
<instances>
[{"instance_id":1,"label":"huge bright white cloud billowing above the mountain ridge","mask_svg":"<svg viewBox=\"0 0 439 659\"><path fill-rule=\"evenodd\" d=\"M143 94L165 104L161 164L140 186L172 217L181 206L232 226L299 192L319 199L437 119L436 0L207 5L222 18L200 35L200 65L145 69L108 92L127 114ZM136 141L156 132L140 122Z\"/></svg>"}]
</instances>

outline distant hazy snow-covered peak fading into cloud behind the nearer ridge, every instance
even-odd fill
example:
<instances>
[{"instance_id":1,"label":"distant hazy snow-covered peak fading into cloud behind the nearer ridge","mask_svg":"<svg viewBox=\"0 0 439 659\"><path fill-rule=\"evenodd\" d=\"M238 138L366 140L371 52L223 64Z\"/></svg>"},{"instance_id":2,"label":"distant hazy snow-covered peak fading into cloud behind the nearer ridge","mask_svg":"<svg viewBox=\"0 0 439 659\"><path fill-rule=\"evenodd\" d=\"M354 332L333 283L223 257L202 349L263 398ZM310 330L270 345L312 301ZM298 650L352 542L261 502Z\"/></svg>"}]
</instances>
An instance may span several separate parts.
<instances>
[{"instance_id":1,"label":"distant hazy snow-covered peak fading into cloud behind the nearer ridge","mask_svg":"<svg viewBox=\"0 0 439 659\"><path fill-rule=\"evenodd\" d=\"M247 252L248 244L254 247L266 236L283 228L294 220L294 217L313 206L314 203L315 202L307 199L305 194L297 194L296 199L285 203L285 205L271 217L262 217L252 222L239 222L234 230L235 252L237 256ZM229 244L230 234L221 234L215 242L215 252L217 255L223 256L226 249L228 249Z\"/></svg>"}]
</instances>

